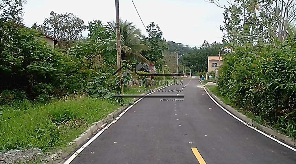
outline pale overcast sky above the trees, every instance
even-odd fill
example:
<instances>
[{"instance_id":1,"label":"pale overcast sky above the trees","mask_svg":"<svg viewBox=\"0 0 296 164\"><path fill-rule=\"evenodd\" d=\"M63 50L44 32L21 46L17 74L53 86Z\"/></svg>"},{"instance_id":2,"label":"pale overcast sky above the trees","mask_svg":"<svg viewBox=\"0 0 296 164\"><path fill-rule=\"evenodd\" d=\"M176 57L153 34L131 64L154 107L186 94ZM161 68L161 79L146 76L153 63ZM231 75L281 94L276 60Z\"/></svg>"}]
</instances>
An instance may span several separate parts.
<instances>
[{"instance_id":1,"label":"pale overcast sky above the trees","mask_svg":"<svg viewBox=\"0 0 296 164\"><path fill-rule=\"evenodd\" d=\"M133 0L145 26L159 24L167 41L180 42L190 47L208 42L221 42L223 9L204 0ZM120 17L128 19L147 35L131 0L119 0ZM24 5L24 23L31 27L41 24L50 12L73 13L86 24L94 19L103 23L115 20L114 0L27 0ZM85 37L87 33L83 34Z\"/></svg>"}]
</instances>

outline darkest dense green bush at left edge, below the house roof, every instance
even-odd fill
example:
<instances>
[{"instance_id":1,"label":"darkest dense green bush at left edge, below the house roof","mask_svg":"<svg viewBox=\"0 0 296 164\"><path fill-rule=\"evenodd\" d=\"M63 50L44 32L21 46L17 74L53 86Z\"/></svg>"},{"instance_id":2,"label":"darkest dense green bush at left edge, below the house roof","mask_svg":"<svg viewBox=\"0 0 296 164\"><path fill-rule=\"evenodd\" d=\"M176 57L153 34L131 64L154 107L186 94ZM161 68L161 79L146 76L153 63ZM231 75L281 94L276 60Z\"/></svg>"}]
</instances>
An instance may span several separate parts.
<instances>
[{"instance_id":1,"label":"darkest dense green bush at left edge, below the house roof","mask_svg":"<svg viewBox=\"0 0 296 164\"><path fill-rule=\"evenodd\" d=\"M81 63L53 50L39 32L13 22L1 24L0 92L19 89L29 98L47 100L73 92Z\"/></svg>"}]
</instances>

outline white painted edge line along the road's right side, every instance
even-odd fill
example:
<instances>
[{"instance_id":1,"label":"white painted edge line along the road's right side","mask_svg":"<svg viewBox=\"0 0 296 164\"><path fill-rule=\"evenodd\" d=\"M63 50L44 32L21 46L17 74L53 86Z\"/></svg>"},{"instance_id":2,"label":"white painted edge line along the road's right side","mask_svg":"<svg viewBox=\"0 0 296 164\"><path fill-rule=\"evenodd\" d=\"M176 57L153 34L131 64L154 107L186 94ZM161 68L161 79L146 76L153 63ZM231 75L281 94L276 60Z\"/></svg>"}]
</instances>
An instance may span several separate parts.
<instances>
[{"instance_id":1,"label":"white painted edge line along the road's right side","mask_svg":"<svg viewBox=\"0 0 296 164\"><path fill-rule=\"evenodd\" d=\"M218 105L223 111L225 111L227 114L231 115L233 118L237 119L239 122L241 122L242 124L246 125L247 127L251 128L251 129L253 129L253 130L256 130L258 133L260 133L260 134L262 134L262 135L264 135L264 136L270 138L271 140L274 140L275 142L277 142L277 143L283 145L284 147L287 147L287 148L289 148L289 149L291 149L291 150L293 150L293 151L296 152L296 149L295 149L294 147L291 147L291 146L285 144L284 142L281 142L280 140L275 139L274 137L269 136L268 134L262 132L261 130L259 130L259 129L257 129L257 128L255 128L255 127L252 127L251 125L247 124L247 123L244 122L242 119L240 119L240 118L234 116L232 113L230 113L228 110L226 110L223 106L221 106L221 105L220 105L215 99L213 99L213 97L207 92L207 90L206 90L205 88L204 88L204 90L205 90L205 92L207 93L207 95L210 97L210 99L212 99L212 101L214 101L214 103L217 104L217 105Z\"/></svg>"}]
</instances>

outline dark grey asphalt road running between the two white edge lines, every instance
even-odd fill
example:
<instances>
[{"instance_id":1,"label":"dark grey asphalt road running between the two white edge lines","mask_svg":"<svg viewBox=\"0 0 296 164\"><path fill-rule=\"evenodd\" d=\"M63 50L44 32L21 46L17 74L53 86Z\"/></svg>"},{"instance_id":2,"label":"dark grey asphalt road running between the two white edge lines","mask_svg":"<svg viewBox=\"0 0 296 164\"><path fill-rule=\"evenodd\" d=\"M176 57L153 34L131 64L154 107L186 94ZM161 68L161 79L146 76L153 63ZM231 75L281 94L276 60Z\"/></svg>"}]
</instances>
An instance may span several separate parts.
<instances>
[{"instance_id":1,"label":"dark grey asphalt road running between the two white edge lines","mask_svg":"<svg viewBox=\"0 0 296 164\"><path fill-rule=\"evenodd\" d=\"M71 164L197 164L191 147L207 164L296 163L296 152L241 124L196 87L198 79L189 81L184 101L139 101Z\"/></svg>"}]
</instances>

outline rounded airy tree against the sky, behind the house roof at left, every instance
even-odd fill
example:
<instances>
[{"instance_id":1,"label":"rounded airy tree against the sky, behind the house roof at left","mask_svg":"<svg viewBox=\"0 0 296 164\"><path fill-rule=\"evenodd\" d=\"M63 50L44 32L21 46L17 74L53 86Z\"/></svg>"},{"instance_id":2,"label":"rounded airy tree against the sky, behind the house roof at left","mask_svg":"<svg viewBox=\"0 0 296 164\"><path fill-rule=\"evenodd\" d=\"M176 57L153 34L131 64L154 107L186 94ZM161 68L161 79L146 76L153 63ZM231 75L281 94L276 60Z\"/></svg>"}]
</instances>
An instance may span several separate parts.
<instances>
[{"instance_id":1,"label":"rounded airy tree against the sky, behind the house roof at left","mask_svg":"<svg viewBox=\"0 0 296 164\"><path fill-rule=\"evenodd\" d=\"M33 27L39 28L36 24ZM82 39L82 32L86 29L84 21L77 15L56 14L55 12L51 12L50 17L46 18L40 27L47 35L72 42Z\"/></svg>"}]
</instances>

